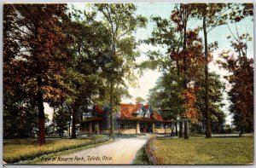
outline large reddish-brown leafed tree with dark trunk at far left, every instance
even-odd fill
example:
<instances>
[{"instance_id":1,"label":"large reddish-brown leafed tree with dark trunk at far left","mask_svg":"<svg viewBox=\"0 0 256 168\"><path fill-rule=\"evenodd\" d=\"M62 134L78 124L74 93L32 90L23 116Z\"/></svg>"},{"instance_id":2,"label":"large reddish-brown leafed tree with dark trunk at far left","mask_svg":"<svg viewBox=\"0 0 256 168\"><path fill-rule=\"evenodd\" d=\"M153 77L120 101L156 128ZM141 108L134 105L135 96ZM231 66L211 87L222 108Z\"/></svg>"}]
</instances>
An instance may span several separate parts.
<instances>
[{"instance_id":1,"label":"large reddish-brown leafed tree with dark trunk at far left","mask_svg":"<svg viewBox=\"0 0 256 168\"><path fill-rule=\"evenodd\" d=\"M63 33L66 10L66 4L4 5L5 19L12 18L3 20L4 90L15 96L18 83L17 88L25 91L32 105L37 105L39 144L45 142L44 101L65 96L62 77L68 44Z\"/></svg>"}]
</instances>

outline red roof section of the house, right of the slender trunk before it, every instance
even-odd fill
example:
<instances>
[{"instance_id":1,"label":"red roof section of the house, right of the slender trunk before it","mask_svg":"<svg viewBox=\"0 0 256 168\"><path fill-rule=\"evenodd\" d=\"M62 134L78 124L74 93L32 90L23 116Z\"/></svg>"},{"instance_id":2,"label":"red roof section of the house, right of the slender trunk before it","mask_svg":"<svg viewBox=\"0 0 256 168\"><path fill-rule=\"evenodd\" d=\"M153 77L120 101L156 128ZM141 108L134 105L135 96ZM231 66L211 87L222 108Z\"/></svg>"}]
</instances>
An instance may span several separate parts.
<instances>
[{"instance_id":1,"label":"red roof section of the house, right of the slender trunk before it","mask_svg":"<svg viewBox=\"0 0 256 168\"><path fill-rule=\"evenodd\" d=\"M142 104L120 104L120 119L135 119L135 120L157 120L162 121L163 118L160 116L159 113L154 112L150 118L138 118L136 116L133 116L133 113L136 113L137 110L142 106ZM148 104L145 105L146 108L148 108Z\"/></svg>"}]
</instances>

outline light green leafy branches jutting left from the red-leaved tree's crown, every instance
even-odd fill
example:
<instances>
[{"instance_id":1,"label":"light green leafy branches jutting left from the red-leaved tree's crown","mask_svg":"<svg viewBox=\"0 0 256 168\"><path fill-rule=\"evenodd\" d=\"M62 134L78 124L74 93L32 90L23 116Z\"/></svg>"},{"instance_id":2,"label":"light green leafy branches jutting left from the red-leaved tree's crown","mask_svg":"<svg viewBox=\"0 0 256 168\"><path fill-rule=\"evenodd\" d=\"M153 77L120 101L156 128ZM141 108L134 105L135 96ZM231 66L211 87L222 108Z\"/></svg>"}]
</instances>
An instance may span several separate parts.
<instances>
[{"instance_id":1,"label":"light green leafy branches jutting left from the red-leaved tree's crown","mask_svg":"<svg viewBox=\"0 0 256 168\"><path fill-rule=\"evenodd\" d=\"M162 19L158 16L151 17L151 20L155 23L152 36L143 40L143 43L166 48L166 54L161 53L160 50L149 50L147 52L149 60L141 63L140 68L168 70L174 63L172 54L178 53L182 47L183 36L177 33L172 20Z\"/></svg>"}]
</instances>

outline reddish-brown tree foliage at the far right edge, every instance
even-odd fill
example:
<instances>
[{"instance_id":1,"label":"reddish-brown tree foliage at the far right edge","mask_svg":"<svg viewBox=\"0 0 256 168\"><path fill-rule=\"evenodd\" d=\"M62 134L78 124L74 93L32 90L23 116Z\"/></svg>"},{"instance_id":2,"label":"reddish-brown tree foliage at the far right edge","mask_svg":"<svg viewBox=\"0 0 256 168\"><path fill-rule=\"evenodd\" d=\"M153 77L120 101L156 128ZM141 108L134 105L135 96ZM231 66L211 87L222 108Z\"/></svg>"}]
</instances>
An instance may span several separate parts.
<instances>
[{"instance_id":1,"label":"reddish-brown tree foliage at the far right edge","mask_svg":"<svg viewBox=\"0 0 256 168\"><path fill-rule=\"evenodd\" d=\"M234 125L242 133L253 131L253 59L223 52L220 66L230 72L225 78L232 88L228 92Z\"/></svg>"}]
</instances>

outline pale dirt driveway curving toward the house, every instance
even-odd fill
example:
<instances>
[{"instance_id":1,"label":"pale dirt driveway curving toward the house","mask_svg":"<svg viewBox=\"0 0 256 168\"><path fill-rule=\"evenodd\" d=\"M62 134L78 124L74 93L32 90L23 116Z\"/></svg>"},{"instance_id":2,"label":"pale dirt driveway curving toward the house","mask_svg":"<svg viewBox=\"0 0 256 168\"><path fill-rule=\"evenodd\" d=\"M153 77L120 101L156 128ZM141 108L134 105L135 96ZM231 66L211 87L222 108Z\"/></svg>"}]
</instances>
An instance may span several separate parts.
<instances>
[{"instance_id":1,"label":"pale dirt driveway curving toward the house","mask_svg":"<svg viewBox=\"0 0 256 168\"><path fill-rule=\"evenodd\" d=\"M149 136L116 139L114 142L63 155L39 164L105 165L131 164L138 149L142 148Z\"/></svg>"}]
</instances>

